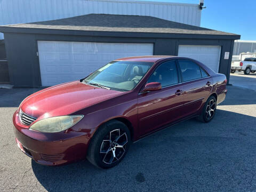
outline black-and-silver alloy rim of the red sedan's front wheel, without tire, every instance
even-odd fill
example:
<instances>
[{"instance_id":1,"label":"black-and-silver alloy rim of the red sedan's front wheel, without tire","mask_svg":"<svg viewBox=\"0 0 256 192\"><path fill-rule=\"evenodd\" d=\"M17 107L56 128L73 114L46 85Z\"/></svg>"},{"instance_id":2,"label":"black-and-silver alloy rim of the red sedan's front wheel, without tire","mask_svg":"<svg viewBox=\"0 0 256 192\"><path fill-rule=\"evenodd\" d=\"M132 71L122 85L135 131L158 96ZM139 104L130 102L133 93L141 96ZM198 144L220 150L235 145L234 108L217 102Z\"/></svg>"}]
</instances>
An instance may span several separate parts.
<instances>
[{"instance_id":1,"label":"black-and-silver alloy rim of the red sedan's front wheel, without tire","mask_svg":"<svg viewBox=\"0 0 256 192\"><path fill-rule=\"evenodd\" d=\"M127 135L120 129L110 131L100 146L100 156L103 163L113 164L125 154Z\"/></svg>"}]
</instances>

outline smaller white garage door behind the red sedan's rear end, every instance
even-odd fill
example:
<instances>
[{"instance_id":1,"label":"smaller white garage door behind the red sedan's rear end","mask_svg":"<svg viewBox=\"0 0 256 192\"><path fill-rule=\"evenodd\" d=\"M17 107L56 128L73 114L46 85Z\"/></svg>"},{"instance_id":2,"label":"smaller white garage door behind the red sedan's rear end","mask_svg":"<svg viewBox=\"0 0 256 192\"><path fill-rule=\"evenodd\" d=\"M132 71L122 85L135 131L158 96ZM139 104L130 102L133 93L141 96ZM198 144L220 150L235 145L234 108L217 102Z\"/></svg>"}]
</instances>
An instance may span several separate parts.
<instances>
[{"instance_id":1,"label":"smaller white garage door behind the red sedan's rear end","mask_svg":"<svg viewBox=\"0 0 256 192\"><path fill-rule=\"evenodd\" d=\"M218 73L220 51L220 46L179 45L178 55L198 60Z\"/></svg>"}]
</instances>

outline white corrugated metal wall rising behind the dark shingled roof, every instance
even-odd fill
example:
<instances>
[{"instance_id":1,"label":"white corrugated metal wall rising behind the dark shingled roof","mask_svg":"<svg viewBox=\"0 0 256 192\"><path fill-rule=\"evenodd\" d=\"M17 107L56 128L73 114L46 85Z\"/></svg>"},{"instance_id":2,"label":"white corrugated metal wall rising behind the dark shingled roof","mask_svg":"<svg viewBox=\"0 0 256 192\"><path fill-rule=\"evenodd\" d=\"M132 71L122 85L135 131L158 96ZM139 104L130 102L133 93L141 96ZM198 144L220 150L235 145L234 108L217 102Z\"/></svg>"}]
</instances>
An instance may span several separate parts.
<instances>
[{"instance_id":1,"label":"white corrugated metal wall rising behind the dark shingled roof","mask_svg":"<svg viewBox=\"0 0 256 192\"><path fill-rule=\"evenodd\" d=\"M0 25L55 20L90 13L147 15L195 26L201 23L201 10L197 4L131 0L0 1ZM3 38L0 33L0 39Z\"/></svg>"}]
</instances>

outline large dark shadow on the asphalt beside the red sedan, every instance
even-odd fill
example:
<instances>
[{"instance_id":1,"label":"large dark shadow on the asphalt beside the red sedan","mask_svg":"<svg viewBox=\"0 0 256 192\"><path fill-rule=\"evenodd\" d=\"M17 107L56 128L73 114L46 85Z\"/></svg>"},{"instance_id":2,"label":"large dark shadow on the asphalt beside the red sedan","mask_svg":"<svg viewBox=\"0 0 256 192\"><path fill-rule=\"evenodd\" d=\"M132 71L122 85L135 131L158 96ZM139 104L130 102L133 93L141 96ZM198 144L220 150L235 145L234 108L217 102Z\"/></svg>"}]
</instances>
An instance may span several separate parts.
<instances>
[{"instance_id":1,"label":"large dark shadow on the asphalt beside the red sedan","mask_svg":"<svg viewBox=\"0 0 256 192\"><path fill-rule=\"evenodd\" d=\"M112 169L86 160L57 167L32 160L31 166L47 191L233 190L254 175L255 124L255 117L218 110L210 123L189 119L133 143Z\"/></svg>"}]
</instances>

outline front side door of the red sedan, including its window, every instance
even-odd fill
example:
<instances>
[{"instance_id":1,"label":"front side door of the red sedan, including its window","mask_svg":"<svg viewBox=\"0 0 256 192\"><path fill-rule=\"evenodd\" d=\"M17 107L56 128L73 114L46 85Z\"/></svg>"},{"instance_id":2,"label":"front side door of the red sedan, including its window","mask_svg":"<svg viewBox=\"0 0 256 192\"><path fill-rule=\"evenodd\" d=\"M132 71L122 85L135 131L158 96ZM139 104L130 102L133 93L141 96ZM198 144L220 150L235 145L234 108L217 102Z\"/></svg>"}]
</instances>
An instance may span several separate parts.
<instances>
[{"instance_id":1,"label":"front side door of the red sedan, including its window","mask_svg":"<svg viewBox=\"0 0 256 192\"><path fill-rule=\"evenodd\" d=\"M161 90L138 94L138 121L141 135L177 120L182 104L182 85L179 83L175 60L161 63L147 83L159 82Z\"/></svg>"}]
</instances>

